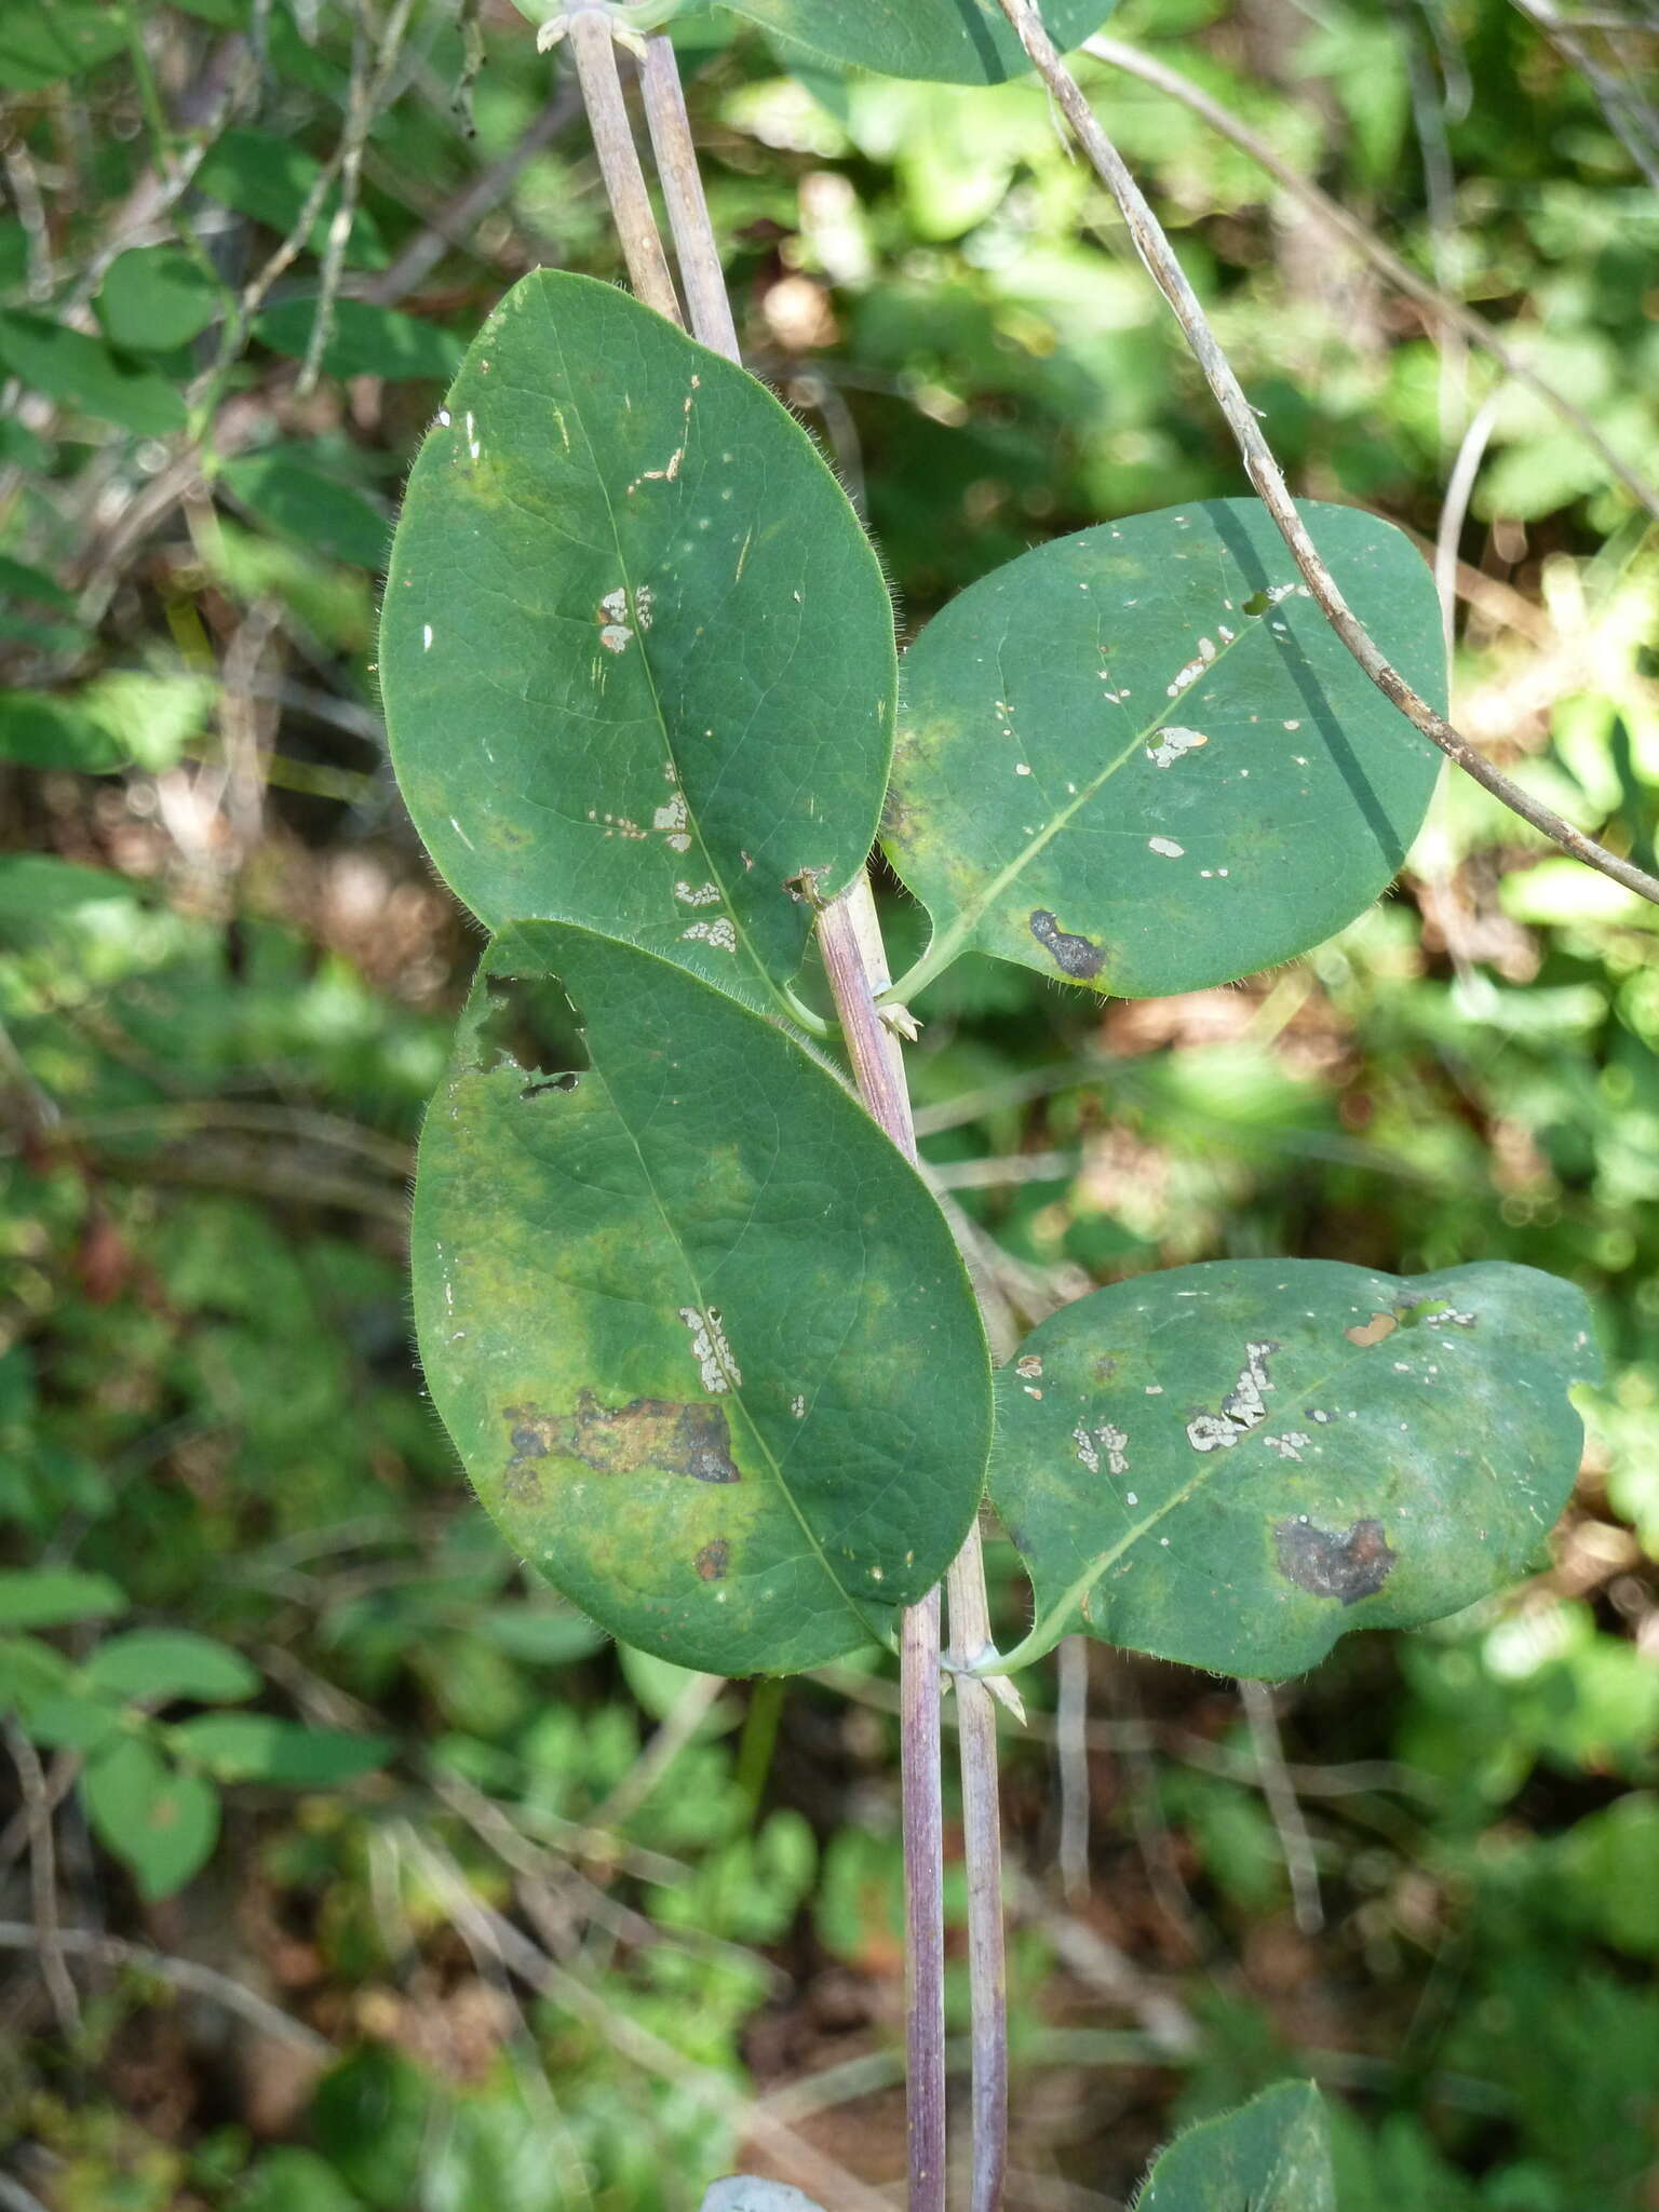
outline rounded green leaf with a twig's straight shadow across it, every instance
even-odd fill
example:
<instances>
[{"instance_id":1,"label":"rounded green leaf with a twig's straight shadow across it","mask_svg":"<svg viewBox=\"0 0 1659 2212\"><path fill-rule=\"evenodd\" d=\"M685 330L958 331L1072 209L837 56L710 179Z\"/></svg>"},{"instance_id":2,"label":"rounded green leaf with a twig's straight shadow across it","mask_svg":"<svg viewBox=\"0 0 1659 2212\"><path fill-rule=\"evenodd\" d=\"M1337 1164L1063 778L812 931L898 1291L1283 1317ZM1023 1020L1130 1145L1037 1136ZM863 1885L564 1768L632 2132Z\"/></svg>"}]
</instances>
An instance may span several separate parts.
<instances>
[{"instance_id":1,"label":"rounded green leaf with a twig's straight shadow across it","mask_svg":"<svg viewBox=\"0 0 1659 2212\"><path fill-rule=\"evenodd\" d=\"M1444 703L1411 542L1349 507L1301 513L1380 648ZM1387 887L1438 768L1256 500L1060 538L905 659L883 843L933 918L918 980L978 947L1157 998L1287 960Z\"/></svg>"}]
</instances>

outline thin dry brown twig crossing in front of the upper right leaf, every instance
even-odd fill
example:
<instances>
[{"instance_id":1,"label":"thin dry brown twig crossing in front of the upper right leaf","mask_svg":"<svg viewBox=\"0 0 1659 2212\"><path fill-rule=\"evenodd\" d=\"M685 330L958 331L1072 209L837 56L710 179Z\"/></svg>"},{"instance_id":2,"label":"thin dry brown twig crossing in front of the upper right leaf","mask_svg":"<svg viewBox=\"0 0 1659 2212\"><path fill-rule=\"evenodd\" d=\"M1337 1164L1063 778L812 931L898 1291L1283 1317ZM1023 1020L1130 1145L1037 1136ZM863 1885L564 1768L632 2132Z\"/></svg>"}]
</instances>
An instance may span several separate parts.
<instances>
[{"instance_id":1,"label":"thin dry brown twig crossing in front of the upper right leaf","mask_svg":"<svg viewBox=\"0 0 1659 2212\"><path fill-rule=\"evenodd\" d=\"M1256 498L1272 515L1272 522L1285 540L1290 557L1296 562L1307 591L1314 595L1325 613L1325 619L1343 639L1358 666L1371 684L1376 684L1383 697L1391 699L1394 706L1400 708L1416 730L1431 739L1431 743L1436 743L1449 761L1455 761L1464 774L1473 776L1475 783L1489 790L1493 799L1502 801L1502 805L1506 805L1513 814L1520 814L1522 821L1531 823L1533 830L1546 836L1553 845L1559 845L1562 852L1571 854L1575 860L1584 860L1588 867L1595 867L1615 883L1621 883L1628 891L1637 891L1639 898L1659 905L1659 876L1650 876L1644 867L1621 860L1604 845L1597 845L1595 838L1584 836L1582 830L1562 821L1559 814L1533 799L1533 794L1522 790L1520 783L1513 783L1502 770L1493 768L1491 761L1475 752L1467 737L1451 728L1444 714L1436 714L1429 701L1422 699L1405 681L1400 670L1394 668L1394 664L1378 650L1369 630L1354 617L1354 611L1343 597L1336 580L1318 557L1318 549L1307 535L1303 518L1296 513L1296 502L1290 495L1272 447L1261 434L1261 422L1256 422L1254 409L1243 396L1243 387L1232 369L1232 363L1221 352L1221 345L1210 330L1197 292L1186 281L1186 272L1175 259L1159 219L1146 204L1146 195L1124 166L1124 157L1102 131L1093 108L1084 100L1082 86L1060 60L1055 42L1044 31L1033 0L1000 0L1000 7L1013 24L1026 55L1035 64L1037 75L1048 86L1055 104L1071 124L1077 144L1088 155L1095 175L1117 201L1128 226L1128 234L1135 241L1135 250L1146 263L1152 283L1175 310L1175 319L1181 325L1181 334L1186 336L1192 358L1199 363L1203 380L1210 385L1210 392L1225 416L1228 429L1232 431L1243 456L1245 473L1256 489Z\"/></svg>"}]
</instances>

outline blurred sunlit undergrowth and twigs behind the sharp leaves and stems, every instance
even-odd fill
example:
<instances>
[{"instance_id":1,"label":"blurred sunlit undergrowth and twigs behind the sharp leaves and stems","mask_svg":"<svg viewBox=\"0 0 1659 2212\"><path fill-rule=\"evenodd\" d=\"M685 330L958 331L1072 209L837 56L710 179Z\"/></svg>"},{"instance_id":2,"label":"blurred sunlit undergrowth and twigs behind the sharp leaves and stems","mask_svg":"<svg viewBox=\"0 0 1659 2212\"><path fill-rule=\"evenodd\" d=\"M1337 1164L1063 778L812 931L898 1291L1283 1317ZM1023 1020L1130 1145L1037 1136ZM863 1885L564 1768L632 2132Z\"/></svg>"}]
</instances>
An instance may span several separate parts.
<instances>
[{"instance_id":1,"label":"blurred sunlit undergrowth and twigs behind the sharp leaves and stems","mask_svg":"<svg viewBox=\"0 0 1659 2212\"><path fill-rule=\"evenodd\" d=\"M1652 478L1644 9L1110 29ZM684 58L750 361L905 633L1040 538L1241 489L1037 91L801 75L723 15ZM1433 540L1480 460L1458 721L1652 867L1635 502L1206 124L1082 71L1298 491ZM385 763L376 577L500 290L617 272L573 95L445 0L11 7L0 88L0 2203L690 2212L739 2152L799 2172L781 2126L889 2183L889 1670L611 1648L471 1504L409 1352L478 940ZM1502 1256L1584 1283L1608 1352L1513 1597L1250 1703L1102 1648L1060 1701L1026 1677L1011 2205L1121 2205L1285 2073L1338 2099L1345 2212L1657 2205L1652 909L1458 781L1283 973L1099 1009L964 962L920 1013L927 1157L1026 1314L1228 1254Z\"/></svg>"}]
</instances>

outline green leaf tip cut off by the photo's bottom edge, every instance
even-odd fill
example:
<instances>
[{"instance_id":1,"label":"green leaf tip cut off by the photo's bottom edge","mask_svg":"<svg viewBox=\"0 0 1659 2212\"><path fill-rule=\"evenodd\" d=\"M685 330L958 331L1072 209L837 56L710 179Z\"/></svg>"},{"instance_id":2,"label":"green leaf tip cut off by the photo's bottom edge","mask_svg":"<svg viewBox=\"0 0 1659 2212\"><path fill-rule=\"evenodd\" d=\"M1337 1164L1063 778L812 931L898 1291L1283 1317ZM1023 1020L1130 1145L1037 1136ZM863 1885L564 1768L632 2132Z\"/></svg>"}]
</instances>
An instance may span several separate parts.
<instances>
[{"instance_id":1,"label":"green leaf tip cut off by the photo's bottom edge","mask_svg":"<svg viewBox=\"0 0 1659 2212\"><path fill-rule=\"evenodd\" d=\"M1206 2119L1155 2161L1135 2212L1336 2212L1325 2106L1312 2081L1281 2081L1239 2112Z\"/></svg>"}]
</instances>

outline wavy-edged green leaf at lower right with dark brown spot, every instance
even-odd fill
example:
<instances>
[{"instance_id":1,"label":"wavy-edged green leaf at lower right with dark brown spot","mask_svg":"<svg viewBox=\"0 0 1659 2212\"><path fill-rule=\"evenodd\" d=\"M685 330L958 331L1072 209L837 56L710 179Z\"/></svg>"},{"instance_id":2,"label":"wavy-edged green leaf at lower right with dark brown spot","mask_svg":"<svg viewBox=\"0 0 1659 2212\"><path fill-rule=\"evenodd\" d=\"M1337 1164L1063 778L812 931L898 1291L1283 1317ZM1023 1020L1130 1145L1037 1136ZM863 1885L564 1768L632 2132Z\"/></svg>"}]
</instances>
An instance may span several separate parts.
<instances>
[{"instance_id":1,"label":"wavy-edged green leaf at lower right with dark brown spot","mask_svg":"<svg viewBox=\"0 0 1659 2212\"><path fill-rule=\"evenodd\" d=\"M1495 1261L1214 1261L1066 1305L998 1376L1037 1641L1283 1677L1502 1588L1573 1489L1588 1332L1579 1290Z\"/></svg>"}]
</instances>

